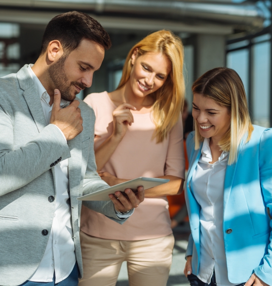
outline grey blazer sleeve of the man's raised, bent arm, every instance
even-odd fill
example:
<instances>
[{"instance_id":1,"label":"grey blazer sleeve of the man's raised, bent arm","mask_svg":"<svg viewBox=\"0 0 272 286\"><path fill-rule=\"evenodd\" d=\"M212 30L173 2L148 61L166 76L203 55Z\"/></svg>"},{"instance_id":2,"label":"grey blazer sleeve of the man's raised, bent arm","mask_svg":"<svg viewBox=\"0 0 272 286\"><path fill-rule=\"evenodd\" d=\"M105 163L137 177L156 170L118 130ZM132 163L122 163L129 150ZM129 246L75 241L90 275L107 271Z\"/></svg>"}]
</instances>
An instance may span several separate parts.
<instances>
[{"instance_id":1,"label":"grey blazer sleeve of the man's raised, bent arm","mask_svg":"<svg viewBox=\"0 0 272 286\"><path fill-rule=\"evenodd\" d=\"M24 146L14 149L11 114L7 104L3 106L0 102L0 196L29 184L48 171L58 158L70 157L67 141L53 124L46 126Z\"/></svg>"}]
</instances>

